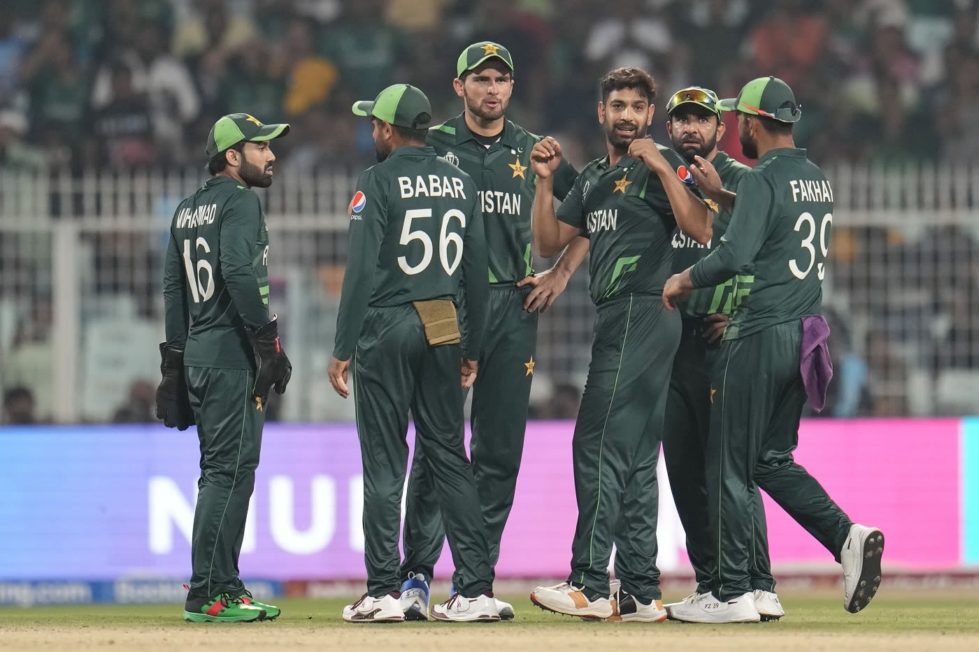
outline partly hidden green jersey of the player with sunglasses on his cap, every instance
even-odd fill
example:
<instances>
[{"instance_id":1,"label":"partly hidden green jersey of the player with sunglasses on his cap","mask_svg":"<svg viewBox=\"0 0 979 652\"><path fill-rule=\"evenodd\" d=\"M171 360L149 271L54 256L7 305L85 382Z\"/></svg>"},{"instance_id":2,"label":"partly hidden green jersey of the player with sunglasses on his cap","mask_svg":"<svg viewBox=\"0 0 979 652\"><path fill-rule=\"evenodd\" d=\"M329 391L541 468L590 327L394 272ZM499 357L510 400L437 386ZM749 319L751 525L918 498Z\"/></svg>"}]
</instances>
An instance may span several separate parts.
<instances>
[{"instance_id":1,"label":"partly hidden green jersey of the player with sunglasses on his cap","mask_svg":"<svg viewBox=\"0 0 979 652\"><path fill-rule=\"evenodd\" d=\"M739 163L723 152L718 152L712 161L724 189L737 192L738 183L745 172L751 169L744 163ZM698 260L711 253L711 246L721 241L727 224L730 223L731 213L729 210L719 207L714 202L708 200L708 206L714 210L714 235L711 242L701 245L699 242L683 233L679 227L674 230L674 273L679 273L687 267L693 265ZM742 270L743 271L743 270ZM717 312L730 314L734 307L736 298L736 279L745 277L742 280L749 280L747 274L739 274L724 281L714 288L698 288L690 293L689 298L678 303L680 312L685 317L703 317Z\"/></svg>"}]
</instances>

